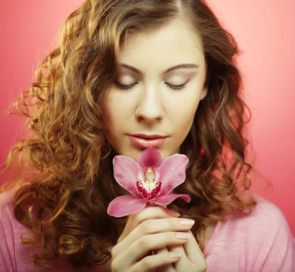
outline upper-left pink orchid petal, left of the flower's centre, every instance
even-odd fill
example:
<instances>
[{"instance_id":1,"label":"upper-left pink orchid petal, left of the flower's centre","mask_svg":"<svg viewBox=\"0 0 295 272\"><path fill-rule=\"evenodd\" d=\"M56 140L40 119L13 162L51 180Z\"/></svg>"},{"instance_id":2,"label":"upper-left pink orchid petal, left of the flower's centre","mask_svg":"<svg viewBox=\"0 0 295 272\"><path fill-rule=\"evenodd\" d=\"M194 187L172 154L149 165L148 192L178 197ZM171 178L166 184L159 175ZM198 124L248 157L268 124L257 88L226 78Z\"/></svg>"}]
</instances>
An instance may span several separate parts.
<instances>
[{"instance_id":1,"label":"upper-left pink orchid petal, left of the flower's centre","mask_svg":"<svg viewBox=\"0 0 295 272\"><path fill-rule=\"evenodd\" d=\"M113 159L114 177L116 181L137 198L143 198L136 190L141 169L136 161L127 156L119 155Z\"/></svg>"}]
</instances>

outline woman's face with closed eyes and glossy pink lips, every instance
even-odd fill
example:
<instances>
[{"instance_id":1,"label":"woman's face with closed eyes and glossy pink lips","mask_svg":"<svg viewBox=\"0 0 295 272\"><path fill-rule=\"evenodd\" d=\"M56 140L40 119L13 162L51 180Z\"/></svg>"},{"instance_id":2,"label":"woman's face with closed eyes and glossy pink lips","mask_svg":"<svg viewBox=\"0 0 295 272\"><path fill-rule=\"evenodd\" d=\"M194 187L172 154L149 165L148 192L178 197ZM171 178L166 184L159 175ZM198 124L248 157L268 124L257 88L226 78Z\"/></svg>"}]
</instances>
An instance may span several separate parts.
<instances>
[{"instance_id":1,"label":"woman's face with closed eyes and glossy pink lips","mask_svg":"<svg viewBox=\"0 0 295 272\"><path fill-rule=\"evenodd\" d=\"M104 101L108 141L118 154L134 160L148 147L160 151L163 159L179 153L207 94L200 38L188 24L175 21L129 36L119 60L118 83Z\"/></svg>"}]
</instances>

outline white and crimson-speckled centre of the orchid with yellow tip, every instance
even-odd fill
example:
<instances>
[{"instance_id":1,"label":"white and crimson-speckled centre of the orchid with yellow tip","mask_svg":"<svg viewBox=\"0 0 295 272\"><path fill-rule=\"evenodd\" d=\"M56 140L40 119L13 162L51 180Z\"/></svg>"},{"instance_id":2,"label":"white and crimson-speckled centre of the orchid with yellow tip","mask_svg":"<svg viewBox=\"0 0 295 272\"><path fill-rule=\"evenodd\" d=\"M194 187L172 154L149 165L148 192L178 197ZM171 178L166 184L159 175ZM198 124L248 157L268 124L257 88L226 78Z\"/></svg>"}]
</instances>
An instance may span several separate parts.
<instances>
[{"instance_id":1,"label":"white and crimson-speckled centre of the orchid with yellow tip","mask_svg":"<svg viewBox=\"0 0 295 272\"><path fill-rule=\"evenodd\" d=\"M145 199L152 199L160 191L162 183L155 181L155 172L151 167L148 167L145 171L145 181L137 181L136 186Z\"/></svg>"}]
</instances>

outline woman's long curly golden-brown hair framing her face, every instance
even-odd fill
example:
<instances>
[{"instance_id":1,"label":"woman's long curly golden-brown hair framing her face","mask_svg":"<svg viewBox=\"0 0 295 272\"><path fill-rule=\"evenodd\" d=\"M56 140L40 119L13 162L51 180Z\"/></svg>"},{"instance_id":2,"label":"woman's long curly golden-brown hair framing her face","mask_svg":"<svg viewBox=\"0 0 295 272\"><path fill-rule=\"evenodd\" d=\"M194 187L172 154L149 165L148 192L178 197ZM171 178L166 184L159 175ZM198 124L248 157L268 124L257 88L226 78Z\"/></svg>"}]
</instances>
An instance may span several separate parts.
<instances>
[{"instance_id":1,"label":"woman's long curly golden-brown hair framing her face","mask_svg":"<svg viewBox=\"0 0 295 272\"><path fill-rule=\"evenodd\" d=\"M66 19L60 47L38 65L30 90L14 103L28 117L32 137L28 133L9 151L4 171L22 175L2 190L19 186L14 213L29 229L21 244L31 245L35 266L46 268L59 256L75 267L111 259L106 244L115 245L119 233L107 207L120 191L113 177L114 150L105 138L103 97L118 75L118 52L127 36L180 16L202 40L208 93L181 145L189 164L175 193L188 194L191 201L177 199L167 208L196 221L191 231L204 251L206 218L222 221L223 210L247 213L256 206L250 194L244 196L251 184L244 135L251 112L241 98L240 52L207 3L86 0Z\"/></svg>"}]
</instances>

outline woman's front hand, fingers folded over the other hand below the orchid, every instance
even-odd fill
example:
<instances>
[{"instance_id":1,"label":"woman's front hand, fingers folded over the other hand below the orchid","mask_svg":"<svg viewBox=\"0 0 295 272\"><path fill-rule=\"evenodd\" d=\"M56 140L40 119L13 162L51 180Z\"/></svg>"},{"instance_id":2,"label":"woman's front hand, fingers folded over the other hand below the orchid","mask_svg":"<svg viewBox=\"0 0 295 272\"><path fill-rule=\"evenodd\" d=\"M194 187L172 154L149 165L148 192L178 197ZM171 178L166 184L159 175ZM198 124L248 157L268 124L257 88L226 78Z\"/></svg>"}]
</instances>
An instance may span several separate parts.
<instances>
[{"instance_id":1,"label":"woman's front hand, fingers folded over the other hand below the orchid","mask_svg":"<svg viewBox=\"0 0 295 272\"><path fill-rule=\"evenodd\" d=\"M157 248L182 246L187 242L187 239L177 238L176 234L185 234L191 226L181 225L179 218L172 217L167 211L170 210L160 206L146 207L130 215L112 250L112 272L155 272L156 268L179 259L171 258L168 251L149 255Z\"/></svg>"}]
</instances>

